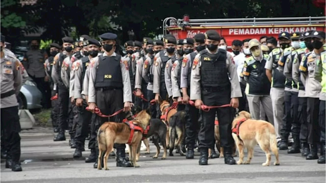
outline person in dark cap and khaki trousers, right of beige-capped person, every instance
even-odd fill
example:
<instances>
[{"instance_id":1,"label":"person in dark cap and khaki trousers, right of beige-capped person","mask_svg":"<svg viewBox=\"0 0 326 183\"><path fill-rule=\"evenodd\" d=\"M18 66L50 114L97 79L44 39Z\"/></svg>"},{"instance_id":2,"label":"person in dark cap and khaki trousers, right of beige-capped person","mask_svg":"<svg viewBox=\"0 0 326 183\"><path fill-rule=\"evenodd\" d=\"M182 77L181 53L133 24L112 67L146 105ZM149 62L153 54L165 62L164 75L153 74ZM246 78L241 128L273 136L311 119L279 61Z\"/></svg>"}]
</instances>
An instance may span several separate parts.
<instances>
[{"instance_id":1,"label":"person in dark cap and khaki trousers, right of beige-capped person","mask_svg":"<svg viewBox=\"0 0 326 183\"><path fill-rule=\"evenodd\" d=\"M272 83L270 94L273 106L274 127L276 137L280 138L282 119L284 116L285 76L278 70L277 62L279 61L283 50L290 47L290 34L288 32L280 33L278 35L278 41L281 48L275 48L269 53L272 60L268 60L268 62L266 62L265 69L266 76ZM285 140L285 142L287 142L287 140Z\"/></svg>"}]
</instances>

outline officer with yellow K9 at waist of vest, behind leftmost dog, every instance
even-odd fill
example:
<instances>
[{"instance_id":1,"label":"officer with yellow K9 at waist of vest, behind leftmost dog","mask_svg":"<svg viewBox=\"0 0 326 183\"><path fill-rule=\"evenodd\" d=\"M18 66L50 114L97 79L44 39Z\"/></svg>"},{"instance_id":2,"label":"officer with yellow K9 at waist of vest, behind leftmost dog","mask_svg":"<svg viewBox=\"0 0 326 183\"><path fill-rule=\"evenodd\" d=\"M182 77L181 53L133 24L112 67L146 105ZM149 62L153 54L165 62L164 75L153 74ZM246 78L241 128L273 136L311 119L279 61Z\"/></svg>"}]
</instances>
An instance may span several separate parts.
<instances>
[{"instance_id":1,"label":"officer with yellow K9 at waist of vest, behind leftmost dog","mask_svg":"<svg viewBox=\"0 0 326 183\"><path fill-rule=\"evenodd\" d=\"M105 115L124 108L125 111L131 109L131 85L128 71L128 57L122 58L114 52L113 45L116 44L116 34L105 33L99 36L103 39L105 52L99 57L91 60L89 65L89 88L88 104L89 109L94 112L97 106ZM117 114L109 121L122 122L125 115ZM107 118L97 116L97 127L108 121ZM97 146L96 146L97 147ZM130 167L130 162L126 161L125 144L114 144L117 149L117 166ZM98 149L96 149L98 152ZM98 154L98 153L97 153ZM94 164L96 168L97 162Z\"/></svg>"}]
</instances>

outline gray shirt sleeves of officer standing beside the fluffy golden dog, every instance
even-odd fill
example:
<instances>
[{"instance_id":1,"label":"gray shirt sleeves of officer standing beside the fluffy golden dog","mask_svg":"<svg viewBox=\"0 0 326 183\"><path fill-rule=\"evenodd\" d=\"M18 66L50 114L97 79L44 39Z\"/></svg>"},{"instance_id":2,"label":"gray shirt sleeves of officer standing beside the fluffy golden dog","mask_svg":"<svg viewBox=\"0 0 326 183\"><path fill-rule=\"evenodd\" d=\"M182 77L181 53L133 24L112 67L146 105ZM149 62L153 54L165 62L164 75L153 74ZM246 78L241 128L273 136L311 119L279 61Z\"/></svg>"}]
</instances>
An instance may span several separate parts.
<instances>
[{"instance_id":1,"label":"gray shirt sleeves of officer standing beside the fluffy golden dog","mask_svg":"<svg viewBox=\"0 0 326 183\"><path fill-rule=\"evenodd\" d=\"M209 51L207 49L209 53ZM242 92L240 88L240 82L237 74L237 67L233 61L233 58L230 53L227 53L226 66L228 68L228 73L231 82L231 98L242 97ZM201 91L200 91L200 54L197 54L192 65L191 77L190 77L190 100L201 100Z\"/></svg>"}]
</instances>

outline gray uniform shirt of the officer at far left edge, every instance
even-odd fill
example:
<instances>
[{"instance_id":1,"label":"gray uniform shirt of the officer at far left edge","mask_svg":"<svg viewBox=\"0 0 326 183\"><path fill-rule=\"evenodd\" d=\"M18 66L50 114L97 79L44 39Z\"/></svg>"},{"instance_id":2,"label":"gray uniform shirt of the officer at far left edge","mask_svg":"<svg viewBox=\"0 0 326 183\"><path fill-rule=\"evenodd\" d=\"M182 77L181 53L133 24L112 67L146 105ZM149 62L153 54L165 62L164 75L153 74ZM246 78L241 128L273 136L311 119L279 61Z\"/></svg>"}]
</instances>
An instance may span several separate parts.
<instances>
[{"instance_id":1,"label":"gray uniform shirt of the officer at far left edge","mask_svg":"<svg viewBox=\"0 0 326 183\"><path fill-rule=\"evenodd\" d=\"M22 87L20 69L20 62L16 57L5 53L4 57L0 58L0 93L15 91L15 94L0 99L0 108L18 106L16 95Z\"/></svg>"}]
</instances>

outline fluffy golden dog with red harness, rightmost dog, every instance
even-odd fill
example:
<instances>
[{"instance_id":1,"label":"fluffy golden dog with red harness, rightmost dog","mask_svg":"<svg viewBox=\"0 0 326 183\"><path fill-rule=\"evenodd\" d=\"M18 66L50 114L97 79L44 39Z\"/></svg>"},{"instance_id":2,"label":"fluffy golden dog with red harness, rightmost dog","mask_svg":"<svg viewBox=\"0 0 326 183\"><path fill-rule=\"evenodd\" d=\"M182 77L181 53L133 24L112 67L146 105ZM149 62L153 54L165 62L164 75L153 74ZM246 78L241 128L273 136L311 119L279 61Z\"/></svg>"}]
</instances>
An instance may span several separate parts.
<instances>
[{"instance_id":1,"label":"fluffy golden dog with red harness, rightmost dog","mask_svg":"<svg viewBox=\"0 0 326 183\"><path fill-rule=\"evenodd\" d=\"M266 154L266 162L262 163L263 166L270 165L270 151L274 153L276 158L274 165L280 164L275 129L271 123L264 120L252 120L248 112L241 111L239 116L232 121L232 137L239 151L237 164L250 164L257 143ZM244 148L248 150L248 157L245 162L243 160Z\"/></svg>"}]
</instances>

